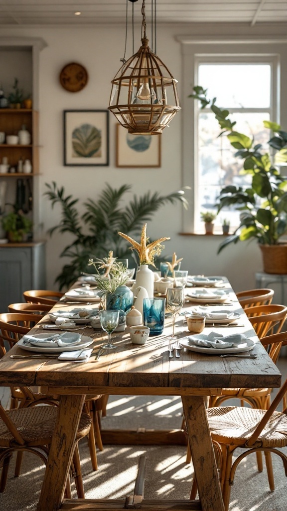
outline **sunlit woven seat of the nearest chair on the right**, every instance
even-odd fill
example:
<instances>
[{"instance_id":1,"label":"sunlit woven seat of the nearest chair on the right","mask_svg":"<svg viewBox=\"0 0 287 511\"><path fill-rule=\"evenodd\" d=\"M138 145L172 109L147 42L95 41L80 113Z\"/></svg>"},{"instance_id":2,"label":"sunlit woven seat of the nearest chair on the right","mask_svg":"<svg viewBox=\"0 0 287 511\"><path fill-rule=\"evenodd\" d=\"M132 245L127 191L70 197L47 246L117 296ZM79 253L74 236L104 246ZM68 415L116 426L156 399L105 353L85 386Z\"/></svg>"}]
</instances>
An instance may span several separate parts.
<instances>
[{"instance_id":1,"label":"sunlit woven seat of the nearest chair on the right","mask_svg":"<svg viewBox=\"0 0 287 511\"><path fill-rule=\"evenodd\" d=\"M219 443L244 447L266 410L236 406L208 408L207 417L212 439ZM256 440L256 446L287 446L287 416L274 412Z\"/></svg>"}]
</instances>

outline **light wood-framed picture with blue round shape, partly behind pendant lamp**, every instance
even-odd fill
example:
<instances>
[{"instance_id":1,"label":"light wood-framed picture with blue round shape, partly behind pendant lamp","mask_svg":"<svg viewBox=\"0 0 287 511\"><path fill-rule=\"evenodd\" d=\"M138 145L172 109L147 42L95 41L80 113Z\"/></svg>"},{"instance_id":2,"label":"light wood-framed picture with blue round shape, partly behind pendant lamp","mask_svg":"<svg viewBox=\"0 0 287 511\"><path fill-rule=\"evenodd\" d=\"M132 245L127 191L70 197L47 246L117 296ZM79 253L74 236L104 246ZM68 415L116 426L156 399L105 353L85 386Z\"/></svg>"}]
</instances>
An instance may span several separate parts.
<instances>
[{"instance_id":1,"label":"light wood-framed picture with blue round shape, partly behind pendant lamp","mask_svg":"<svg viewBox=\"0 0 287 511\"><path fill-rule=\"evenodd\" d=\"M151 168L161 166L161 135L130 134L116 125L116 167Z\"/></svg>"}]
</instances>

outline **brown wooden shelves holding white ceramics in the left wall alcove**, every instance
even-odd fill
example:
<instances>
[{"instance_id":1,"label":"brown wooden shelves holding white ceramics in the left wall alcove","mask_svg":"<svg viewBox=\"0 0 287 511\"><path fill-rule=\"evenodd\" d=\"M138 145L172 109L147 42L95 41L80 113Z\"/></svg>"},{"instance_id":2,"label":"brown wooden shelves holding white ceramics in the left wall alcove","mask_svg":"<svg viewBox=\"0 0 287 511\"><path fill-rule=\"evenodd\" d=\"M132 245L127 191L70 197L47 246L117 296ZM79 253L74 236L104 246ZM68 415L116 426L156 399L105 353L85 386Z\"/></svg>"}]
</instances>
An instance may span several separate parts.
<instances>
[{"instance_id":1,"label":"brown wooden shelves holding white ceramics in the left wall alcove","mask_svg":"<svg viewBox=\"0 0 287 511\"><path fill-rule=\"evenodd\" d=\"M31 133L30 145L9 145L0 144L0 161L3 156L8 158L8 164L15 167L17 171L17 164L19 159L30 159L32 163L32 174L24 173L3 173L0 177L14 177L14 176L31 176L39 173L39 149L38 149L38 112L25 108L1 108L0 109L0 131L4 131L5 135L17 135L21 126L25 125L27 130Z\"/></svg>"}]
</instances>

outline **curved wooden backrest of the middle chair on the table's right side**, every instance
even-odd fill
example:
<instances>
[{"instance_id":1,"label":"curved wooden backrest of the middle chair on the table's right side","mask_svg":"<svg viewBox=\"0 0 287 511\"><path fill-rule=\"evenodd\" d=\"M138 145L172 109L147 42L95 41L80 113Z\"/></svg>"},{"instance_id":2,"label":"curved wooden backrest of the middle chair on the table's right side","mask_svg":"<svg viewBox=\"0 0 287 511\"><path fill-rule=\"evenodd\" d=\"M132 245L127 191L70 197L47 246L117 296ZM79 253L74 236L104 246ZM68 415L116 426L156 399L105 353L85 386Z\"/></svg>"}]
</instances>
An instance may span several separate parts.
<instances>
[{"instance_id":1,"label":"curved wooden backrest of the middle chair on the table's right side","mask_svg":"<svg viewBox=\"0 0 287 511\"><path fill-rule=\"evenodd\" d=\"M279 333L287 316L284 305L258 305L244 310L259 339L266 335Z\"/></svg>"}]
</instances>

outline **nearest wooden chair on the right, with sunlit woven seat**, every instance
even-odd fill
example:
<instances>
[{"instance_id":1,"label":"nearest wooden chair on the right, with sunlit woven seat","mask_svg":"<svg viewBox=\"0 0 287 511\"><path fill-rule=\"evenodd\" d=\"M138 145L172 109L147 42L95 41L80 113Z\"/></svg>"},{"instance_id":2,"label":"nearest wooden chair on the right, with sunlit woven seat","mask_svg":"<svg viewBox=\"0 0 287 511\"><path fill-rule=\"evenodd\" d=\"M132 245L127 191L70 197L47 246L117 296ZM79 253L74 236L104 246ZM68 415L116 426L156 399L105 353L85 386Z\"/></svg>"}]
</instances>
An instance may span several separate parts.
<instances>
[{"instance_id":1,"label":"nearest wooden chair on the right, with sunlit woven seat","mask_svg":"<svg viewBox=\"0 0 287 511\"><path fill-rule=\"evenodd\" d=\"M220 446L222 453L221 485L226 511L236 468L248 454L264 451L267 467L271 453L277 454L283 461L287 476L287 456L277 450L287 446L287 409L283 409L282 413L275 411L286 391L287 380L267 411L236 406L207 409L212 440ZM238 447L247 451L232 463L232 455ZM273 473L269 469L268 477L269 485L274 486ZM193 496L194 489L190 498Z\"/></svg>"}]
</instances>

